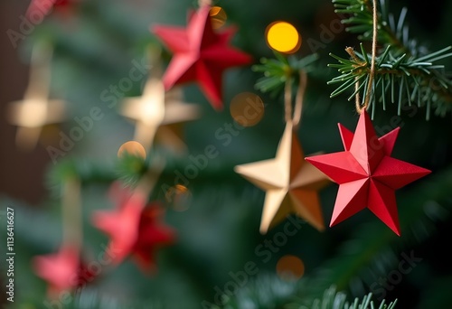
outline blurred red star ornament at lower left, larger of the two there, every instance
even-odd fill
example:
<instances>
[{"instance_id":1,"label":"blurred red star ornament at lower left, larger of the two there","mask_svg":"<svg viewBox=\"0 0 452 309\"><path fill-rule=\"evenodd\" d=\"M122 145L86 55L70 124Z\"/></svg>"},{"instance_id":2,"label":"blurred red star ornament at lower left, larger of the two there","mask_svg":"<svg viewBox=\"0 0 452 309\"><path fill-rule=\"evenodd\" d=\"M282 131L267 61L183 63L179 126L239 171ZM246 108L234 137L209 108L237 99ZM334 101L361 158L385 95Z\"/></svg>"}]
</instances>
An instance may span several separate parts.
<instances>
[{"instance_id":1,"label":"blurred red star ornament at lower left, larger of the two there","mask_svg":"<svg viewBox=\"0 0 452 309\"><path fill-rule=\"evenodd\" d=\"M163 208L157 203L146 205L142 192L121 188L110 193L119 199L117 210L97 211L92 218L94 226L110 237L106 254L111 253L113 264L132 256L144 271L154 270L155 251L175 241L174 229L162 221Z\"/></svg>"}]
</instances>

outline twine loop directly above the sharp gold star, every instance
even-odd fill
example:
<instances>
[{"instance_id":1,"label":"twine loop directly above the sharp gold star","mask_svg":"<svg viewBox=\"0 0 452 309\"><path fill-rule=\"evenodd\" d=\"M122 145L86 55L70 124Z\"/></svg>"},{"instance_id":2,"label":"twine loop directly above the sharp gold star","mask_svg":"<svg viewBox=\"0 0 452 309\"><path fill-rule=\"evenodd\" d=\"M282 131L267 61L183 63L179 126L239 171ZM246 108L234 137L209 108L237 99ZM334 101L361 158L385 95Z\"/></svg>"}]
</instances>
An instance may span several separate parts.
<instances>
[{"instance_id":1,"label":"twine loop directly above the sharp gold star","mask_svg":"<svg viewBox=\"0 0 452 309\"><path fill-rule=\"evenodd\" d=\"M292 79L287 78L284 88L284 111L286 122L292 122L297 127L301 121L301 113L303 110L303 99L306 92L307 76L304 70L299 70L300 81L297 89L297 97L295 98L295 107L292 110Z\"/></svg>"}]
</instances>

